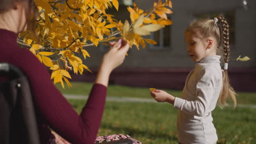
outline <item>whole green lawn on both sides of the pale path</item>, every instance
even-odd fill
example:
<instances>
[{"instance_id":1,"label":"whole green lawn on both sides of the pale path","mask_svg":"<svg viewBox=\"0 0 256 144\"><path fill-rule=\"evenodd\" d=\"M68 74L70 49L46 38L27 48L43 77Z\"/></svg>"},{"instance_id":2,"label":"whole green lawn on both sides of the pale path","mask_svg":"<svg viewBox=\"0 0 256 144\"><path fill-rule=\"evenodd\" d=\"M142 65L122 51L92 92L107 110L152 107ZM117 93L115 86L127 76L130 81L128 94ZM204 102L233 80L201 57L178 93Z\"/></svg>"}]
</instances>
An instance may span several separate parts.
<instances>
[{"instance_id":1,"label":"whole green lawn on both sides of the pale path","mask_svg":"<svg viewBox=\"0 0 256 144\"><path fill-rule=\"evenodd\" d=\"M62 93L88 95L92 83L73 82L66 90L57 86ZM180 96L181 91L164 89ZM112 97L151 98L148 88L125 86L108 87ZM256 104L256 93L238 93L238 104ZM80 113L85 100L70 100L74 109ZM255 109L236 107L213 111L213 123L219 137L218 143L255 143ZM143 143L178 143L176 131L177 110L166 103L128 103L107 101L106 109L98 135L128 134Z\"/></svg>"}]
</instances>

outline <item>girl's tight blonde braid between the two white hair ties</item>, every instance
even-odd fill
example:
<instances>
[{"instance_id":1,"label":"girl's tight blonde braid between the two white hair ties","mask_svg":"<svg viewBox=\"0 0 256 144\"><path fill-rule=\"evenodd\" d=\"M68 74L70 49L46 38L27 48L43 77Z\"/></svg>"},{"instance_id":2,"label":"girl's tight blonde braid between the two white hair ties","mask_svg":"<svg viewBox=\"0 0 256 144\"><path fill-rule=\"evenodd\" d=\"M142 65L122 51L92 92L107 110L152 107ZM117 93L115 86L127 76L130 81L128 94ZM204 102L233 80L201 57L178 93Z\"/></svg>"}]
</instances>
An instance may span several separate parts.
<instances>
[{"instance_id":1,"label":"girl's tight blonde braid between the two white hair ties","mask_svg":"<svg viewBox=\"0 0 256 144\"><path fill-rule=\"evenodd\" d=\"M224 62L229 62L229 25L228 22L224 19L224 17L219 16L218 17L220 26L222 27L222 32L220 32L222 35L220 37L222 38L222 45L223 45L223 51L224 51Z\"/></svg>"}]
</instances>

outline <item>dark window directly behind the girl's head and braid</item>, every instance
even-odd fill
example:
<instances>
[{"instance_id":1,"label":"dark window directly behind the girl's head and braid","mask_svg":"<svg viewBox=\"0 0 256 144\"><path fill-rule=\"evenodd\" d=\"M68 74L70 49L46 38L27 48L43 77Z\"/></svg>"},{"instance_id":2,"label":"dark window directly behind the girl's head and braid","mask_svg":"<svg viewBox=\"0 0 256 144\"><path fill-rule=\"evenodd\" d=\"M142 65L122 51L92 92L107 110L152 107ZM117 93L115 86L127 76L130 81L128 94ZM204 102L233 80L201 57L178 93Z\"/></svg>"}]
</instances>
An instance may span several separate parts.
<instances>
[{"instance_id":1,"label":"dark window directly behind the girl's head and braid","mask_svg":"<svg viewBox=\"0 0 256 144\"><path fill-rule=\"evenodd\" d=\"M196 14L196 18L209 18L213 19L213 17L218 17L220 13L204 13L204 14ZM235 10L225 11L222 13L229 23L229 43L231 45L235 44Z\"/></svg>"}]
</instances>

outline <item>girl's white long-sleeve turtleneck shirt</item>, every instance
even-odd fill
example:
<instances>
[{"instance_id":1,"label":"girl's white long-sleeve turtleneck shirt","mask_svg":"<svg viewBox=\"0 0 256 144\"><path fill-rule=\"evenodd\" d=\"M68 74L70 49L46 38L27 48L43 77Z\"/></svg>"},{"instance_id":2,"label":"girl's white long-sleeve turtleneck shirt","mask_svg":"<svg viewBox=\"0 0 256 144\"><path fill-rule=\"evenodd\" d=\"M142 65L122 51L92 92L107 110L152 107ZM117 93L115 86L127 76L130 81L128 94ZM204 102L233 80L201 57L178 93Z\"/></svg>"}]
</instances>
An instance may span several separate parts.
<instances>
[{"instance_id":1,"label":"girl's white long-sleeve turtleneck shirt","mask_svg":"<svg viewBox=\"0 0 256 144\"><path fill-rule=\"evenodd\" d=\"M215 109L222 89L220 56L208 56L190 71L181 98L175 98L178 140L182 144L215 143L218 140L213 125Z\"/></svg>"}]
</instances>

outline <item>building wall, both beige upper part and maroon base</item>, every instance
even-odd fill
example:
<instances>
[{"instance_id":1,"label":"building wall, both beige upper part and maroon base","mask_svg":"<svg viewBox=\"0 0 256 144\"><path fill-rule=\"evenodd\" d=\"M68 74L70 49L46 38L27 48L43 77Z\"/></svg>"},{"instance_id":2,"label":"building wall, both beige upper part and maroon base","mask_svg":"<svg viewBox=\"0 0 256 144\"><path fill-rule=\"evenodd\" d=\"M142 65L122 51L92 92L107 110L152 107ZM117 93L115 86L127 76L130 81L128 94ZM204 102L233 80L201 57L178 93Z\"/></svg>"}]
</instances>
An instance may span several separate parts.
<instances>
[{"instance_id":1,"label":"building wall, both beige upper part and maroon base","mask_svg":"<svg viewBox=\"0 0 256 144\"><path fill-rule=\"evenodd\" d=\"M138 7L144 10L150 9L155 0L135 0ZM114 70L110 76L110 83L119 85L182 89L185 78L194 67L194 63L187 56L184 43L184 30L189 22L195 19L196 14L221 13L222 11L235 11L235 44L231 45L229 74L232 86L236 91L256 91L256 1L248 0L249 9L242 7L241 0L172 0L173 14L171 20L170 41L171 45L164 49L152 49L147 45L146 49L133 48L126 57L121 67ZM118 12L111 13L120 17L122 21L129 19L129 13L125 7ZM127 18L126 18L127 17ZM94 73L86 73L74 76L73 80L94 81L98 65L104 55L104 47L86 48L91 55L85 62ZM239 55L248 56L250 61L232 61Z\"/></svg>"}]
</instances>

